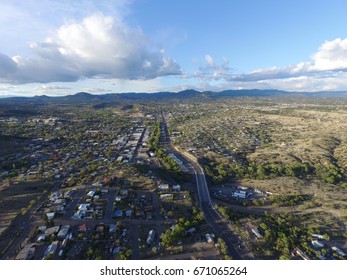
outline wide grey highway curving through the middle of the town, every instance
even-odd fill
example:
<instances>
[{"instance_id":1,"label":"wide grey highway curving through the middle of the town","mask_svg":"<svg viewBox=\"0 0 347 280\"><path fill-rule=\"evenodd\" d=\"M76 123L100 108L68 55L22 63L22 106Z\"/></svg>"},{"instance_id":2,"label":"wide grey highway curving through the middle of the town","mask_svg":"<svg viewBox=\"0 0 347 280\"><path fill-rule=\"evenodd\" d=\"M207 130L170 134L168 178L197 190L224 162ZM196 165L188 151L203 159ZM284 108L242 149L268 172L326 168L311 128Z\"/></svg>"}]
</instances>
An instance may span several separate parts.
<instances>
[{"instance_id":1,"label":"wide grey highway curving through the middle of the town","mask_svg":"<svg viewBox=\"0 0 347 280\"><path fill-rule=\"evenodd\" d=\"M204 212L204 216L207 223L211 226L214 232L216 232L225 241L225 243L228 246L228 253L234 260L244 259L244 257L242 257L239 253L239 250L236 249L237 246L241 244L240 239L233 233L228 222L219 214L219 212L213 206L208 185L206 182L206 177L202 167L195 160L183 155L180 151L178 151L171 145L163 113L161 114L161 119L162 135L160 143L161 145L165 146L167 150L175 152L175 154L178 155L179 158L185 162L187 167L189 166L188 169L192 169L192 171L194 172L198 190L199 205L202 211ZM249 254L249 252L247 253L247 255L251 255ZM252 256L249 256L248 258L251 259Z\"/></svg>"}]
</instances>

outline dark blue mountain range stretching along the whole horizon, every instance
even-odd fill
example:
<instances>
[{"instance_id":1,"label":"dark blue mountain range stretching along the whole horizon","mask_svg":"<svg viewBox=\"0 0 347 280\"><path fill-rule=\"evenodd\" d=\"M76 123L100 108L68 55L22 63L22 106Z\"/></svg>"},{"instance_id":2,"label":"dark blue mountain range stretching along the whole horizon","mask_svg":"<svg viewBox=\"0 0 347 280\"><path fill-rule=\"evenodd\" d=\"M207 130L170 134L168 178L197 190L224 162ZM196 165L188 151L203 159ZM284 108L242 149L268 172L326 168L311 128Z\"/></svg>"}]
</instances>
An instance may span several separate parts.
<instances>
[{"instance_id":1,"label":"dark blue mountain range stretching along the whole horizon","mask_svg":"<svg viewBox=\"0 0 347 280\"><path fill-rule=\"evenodd\" d=\"M1 98L0 105L4 104L93 104L95 108L104 108L118 103L132 103L132 102L153 102L165 100L215 100L220 98L234 98L234 97L264 97L264 96L305 96L305 97L347 97L346 91L339 92L288 92L281 90L260 90L260 89L244 89L244 90L224 90L220 92L213 91L196 91L188 89L180 92L157 92L157 93L107 93L101 95L94 95L88 92L78 92L73 95L50 97L46 95L34 97L8 97Z\"/></svg>"}]
</instances>

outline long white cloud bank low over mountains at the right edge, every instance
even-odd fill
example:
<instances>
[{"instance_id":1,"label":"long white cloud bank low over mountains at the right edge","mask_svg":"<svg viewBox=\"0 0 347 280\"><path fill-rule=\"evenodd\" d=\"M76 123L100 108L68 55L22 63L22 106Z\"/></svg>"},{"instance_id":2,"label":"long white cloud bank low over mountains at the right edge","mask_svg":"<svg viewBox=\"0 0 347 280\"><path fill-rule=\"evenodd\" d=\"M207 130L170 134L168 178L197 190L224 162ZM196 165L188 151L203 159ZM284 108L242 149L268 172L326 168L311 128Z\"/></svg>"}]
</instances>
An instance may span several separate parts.
<instances>
[{"instance_id":1,"label":"long white cloud bank low over mountains at the right edge","mask_svg":"<svg viewBox=\"0 0 347 280\"><path fill-rule=\"evenodd\" d=\"M235 73L229 61L222 63L209 54L204 65L193 74L181 78L199 90L224 89L280 89L288 91L347 90L347 38L324 42L318 50L304 61L286 67L268 67L249 73ZM191 80L194 79L194 82ZM189 87L189 86L188 86Z\"/></svg>"}]
</instances>

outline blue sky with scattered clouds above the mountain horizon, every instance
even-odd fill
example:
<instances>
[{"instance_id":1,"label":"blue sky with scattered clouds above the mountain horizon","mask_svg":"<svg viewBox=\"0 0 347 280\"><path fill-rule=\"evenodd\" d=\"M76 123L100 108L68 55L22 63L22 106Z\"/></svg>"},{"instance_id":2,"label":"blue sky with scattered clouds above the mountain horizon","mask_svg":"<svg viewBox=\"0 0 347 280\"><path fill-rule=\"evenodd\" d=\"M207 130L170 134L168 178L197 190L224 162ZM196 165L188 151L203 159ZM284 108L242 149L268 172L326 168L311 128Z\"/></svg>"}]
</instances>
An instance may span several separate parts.
<instances>
[{"instance_id":1,"label":"blue sky with scattered clouds above the mountain horizon","mask_svg":"<svg viewBox=\"0 0 347 280\"><path fill-rule=\"evenodd\" d=\"M0 96L347 90L345 0L0 0Z\"/></svg>"}]
</instances>

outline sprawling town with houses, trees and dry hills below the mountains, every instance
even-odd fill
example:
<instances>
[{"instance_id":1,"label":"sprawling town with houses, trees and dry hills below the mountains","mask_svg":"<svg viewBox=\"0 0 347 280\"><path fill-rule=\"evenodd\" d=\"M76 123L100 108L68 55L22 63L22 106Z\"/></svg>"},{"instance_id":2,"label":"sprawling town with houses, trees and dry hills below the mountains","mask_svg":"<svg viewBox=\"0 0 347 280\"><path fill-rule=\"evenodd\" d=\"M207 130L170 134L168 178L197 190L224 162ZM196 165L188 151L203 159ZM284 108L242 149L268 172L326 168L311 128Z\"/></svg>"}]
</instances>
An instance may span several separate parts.
<instances>
[{"instance_id":1,"label":"sprawling town with houses, trees and dry hills below the mountains","mask_svg":"<svg viewBox=\"0 0 347 280\"><path fill-rule=\"evenodd\" d=\"M1 107L0 256L345 259L346 108Z\"/></svg>"}]
</instances>

